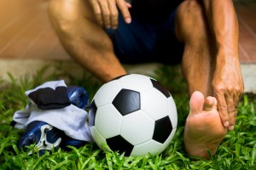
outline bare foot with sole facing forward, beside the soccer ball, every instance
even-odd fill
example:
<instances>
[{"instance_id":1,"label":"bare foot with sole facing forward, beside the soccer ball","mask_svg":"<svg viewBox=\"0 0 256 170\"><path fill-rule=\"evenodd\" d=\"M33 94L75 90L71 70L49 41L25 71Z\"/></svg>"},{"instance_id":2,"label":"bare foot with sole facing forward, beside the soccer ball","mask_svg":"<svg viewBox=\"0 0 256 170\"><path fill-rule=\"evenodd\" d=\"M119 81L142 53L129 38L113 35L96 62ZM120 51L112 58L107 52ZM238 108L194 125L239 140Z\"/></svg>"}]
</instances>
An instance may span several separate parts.
<instances>
[{"instance_id":1,"label":"bare foot with sole facing forward, beside the soccer ball","mask_svg":"<svg viewBox=\"0 0 256 170\"><path fill-rule=\"evenodd\" d=\"M217 100L211 96L205 100L200 92L193 93L184 131L184 144L189 155L209 158L207 150L214 155L226 133L227 128L217 111Z\"/></svg>"}]
</instances>

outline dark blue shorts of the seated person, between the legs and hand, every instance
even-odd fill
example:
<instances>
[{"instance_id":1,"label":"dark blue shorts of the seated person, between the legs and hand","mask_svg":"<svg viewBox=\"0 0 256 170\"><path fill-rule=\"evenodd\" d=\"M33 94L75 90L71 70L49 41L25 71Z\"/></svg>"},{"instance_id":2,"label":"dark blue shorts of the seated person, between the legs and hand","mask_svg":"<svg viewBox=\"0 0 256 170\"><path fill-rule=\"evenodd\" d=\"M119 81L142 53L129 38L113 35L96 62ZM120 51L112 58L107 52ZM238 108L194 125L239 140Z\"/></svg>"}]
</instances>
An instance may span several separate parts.
<instances>
[{"instance_id":1,"label":"dark blue shorts of the seated person, between the legs and hand","mask_svg":"<svg viewBox=\"0 0 256 170\"><path fill-rule=\"evenodd\" d=\"M126 24L119 14L117 30L108 29L115 54L121 63L160 62L176 65L183 56L183 43L175 36L176 10L163 23L147 23L131 18Z\"/></svg>"}]
</instances>

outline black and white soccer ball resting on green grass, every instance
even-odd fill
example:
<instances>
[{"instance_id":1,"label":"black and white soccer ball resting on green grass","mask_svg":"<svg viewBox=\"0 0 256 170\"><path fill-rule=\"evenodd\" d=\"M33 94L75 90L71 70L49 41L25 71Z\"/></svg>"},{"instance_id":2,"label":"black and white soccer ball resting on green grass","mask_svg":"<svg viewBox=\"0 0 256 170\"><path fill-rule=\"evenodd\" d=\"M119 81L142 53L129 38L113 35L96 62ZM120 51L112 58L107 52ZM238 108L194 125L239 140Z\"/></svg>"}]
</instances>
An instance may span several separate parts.
<instances>
[{"instance_id":1,"label":"black and white soccer ball resting on green grass","mask_svg":"<svg viewBox=\"0 0 256 170\"><path fill-rule=\"evenodd\" d=\"M90 104L90 133L102 150L125 156L155 156L166 150L177 127L172 95L160 82L140 74L102 85Z\"/></svg>"}]
</instances>

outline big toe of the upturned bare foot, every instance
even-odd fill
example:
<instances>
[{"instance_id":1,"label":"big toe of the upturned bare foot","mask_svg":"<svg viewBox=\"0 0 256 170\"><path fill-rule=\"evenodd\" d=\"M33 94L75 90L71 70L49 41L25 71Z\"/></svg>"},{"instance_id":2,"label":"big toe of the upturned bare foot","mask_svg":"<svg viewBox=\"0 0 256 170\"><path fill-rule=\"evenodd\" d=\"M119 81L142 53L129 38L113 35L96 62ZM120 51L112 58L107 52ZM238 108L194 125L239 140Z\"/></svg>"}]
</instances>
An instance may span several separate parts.
<instances>
[{"instance_id":1,"label":"big toe of the upturned bare foot","mask_svg":"<svg viewBox=\"0 0 256 170\"><path fill-rule=\"evenodd\" d=\"M203 111L204 95L199 91L195 91L190 97L190 113L196 114Z\"/></svg>"}]
</instances>

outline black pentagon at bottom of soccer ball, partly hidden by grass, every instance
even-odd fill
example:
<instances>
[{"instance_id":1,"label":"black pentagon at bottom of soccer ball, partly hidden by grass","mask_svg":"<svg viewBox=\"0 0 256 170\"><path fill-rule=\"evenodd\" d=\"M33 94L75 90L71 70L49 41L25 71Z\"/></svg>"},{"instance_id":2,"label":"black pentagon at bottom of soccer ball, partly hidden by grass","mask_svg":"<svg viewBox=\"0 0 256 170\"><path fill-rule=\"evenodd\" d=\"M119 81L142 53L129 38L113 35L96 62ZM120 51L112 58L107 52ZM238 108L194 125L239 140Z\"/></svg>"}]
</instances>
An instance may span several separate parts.
<instances>
[{"instance_id":1,"label":"black pentagon at bottom of soccer ball, partly hidden by grass","mask_svg":"<svg viewBox=\"0 0 256 170\"><path fill-rule=\"evenodd\" d=\"M125 156L130 156L133 150L133 145L125 140L121 135L115 136L113 138L106 139L109 148L113 151L118 151L122 154L125 152Z\"/></svg>"}]
</instances>

